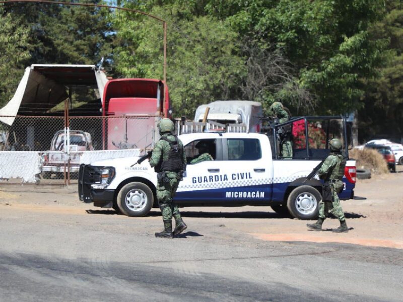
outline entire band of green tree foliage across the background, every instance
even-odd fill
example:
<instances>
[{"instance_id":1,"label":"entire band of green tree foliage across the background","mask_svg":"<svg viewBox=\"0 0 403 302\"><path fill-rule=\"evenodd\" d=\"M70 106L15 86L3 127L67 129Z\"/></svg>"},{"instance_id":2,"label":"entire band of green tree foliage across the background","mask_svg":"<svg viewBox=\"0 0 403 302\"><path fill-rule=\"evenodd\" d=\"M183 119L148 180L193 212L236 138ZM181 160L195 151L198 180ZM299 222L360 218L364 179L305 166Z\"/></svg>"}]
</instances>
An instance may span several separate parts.
<instances>
[{"instance_id":1,"label":"entire band of green tree foliage across the background","mask_svg":"<svg viewBox=\"0 0 403 302\"><path fill-rule=\"evenodd\" d=\"M167 83L175 115L190 117L197 105L218 99L266 107L281 101L293 114L358 110L363 129L401 132L400 0L116 5L167 21ZM0 39L18 40L7 46L10 60L0 72L30 63L93 64L105 56L115 77L163 78L162 24L144 15L48 4L8 4L0 13Z\"/></svg>"}]
</instances>

